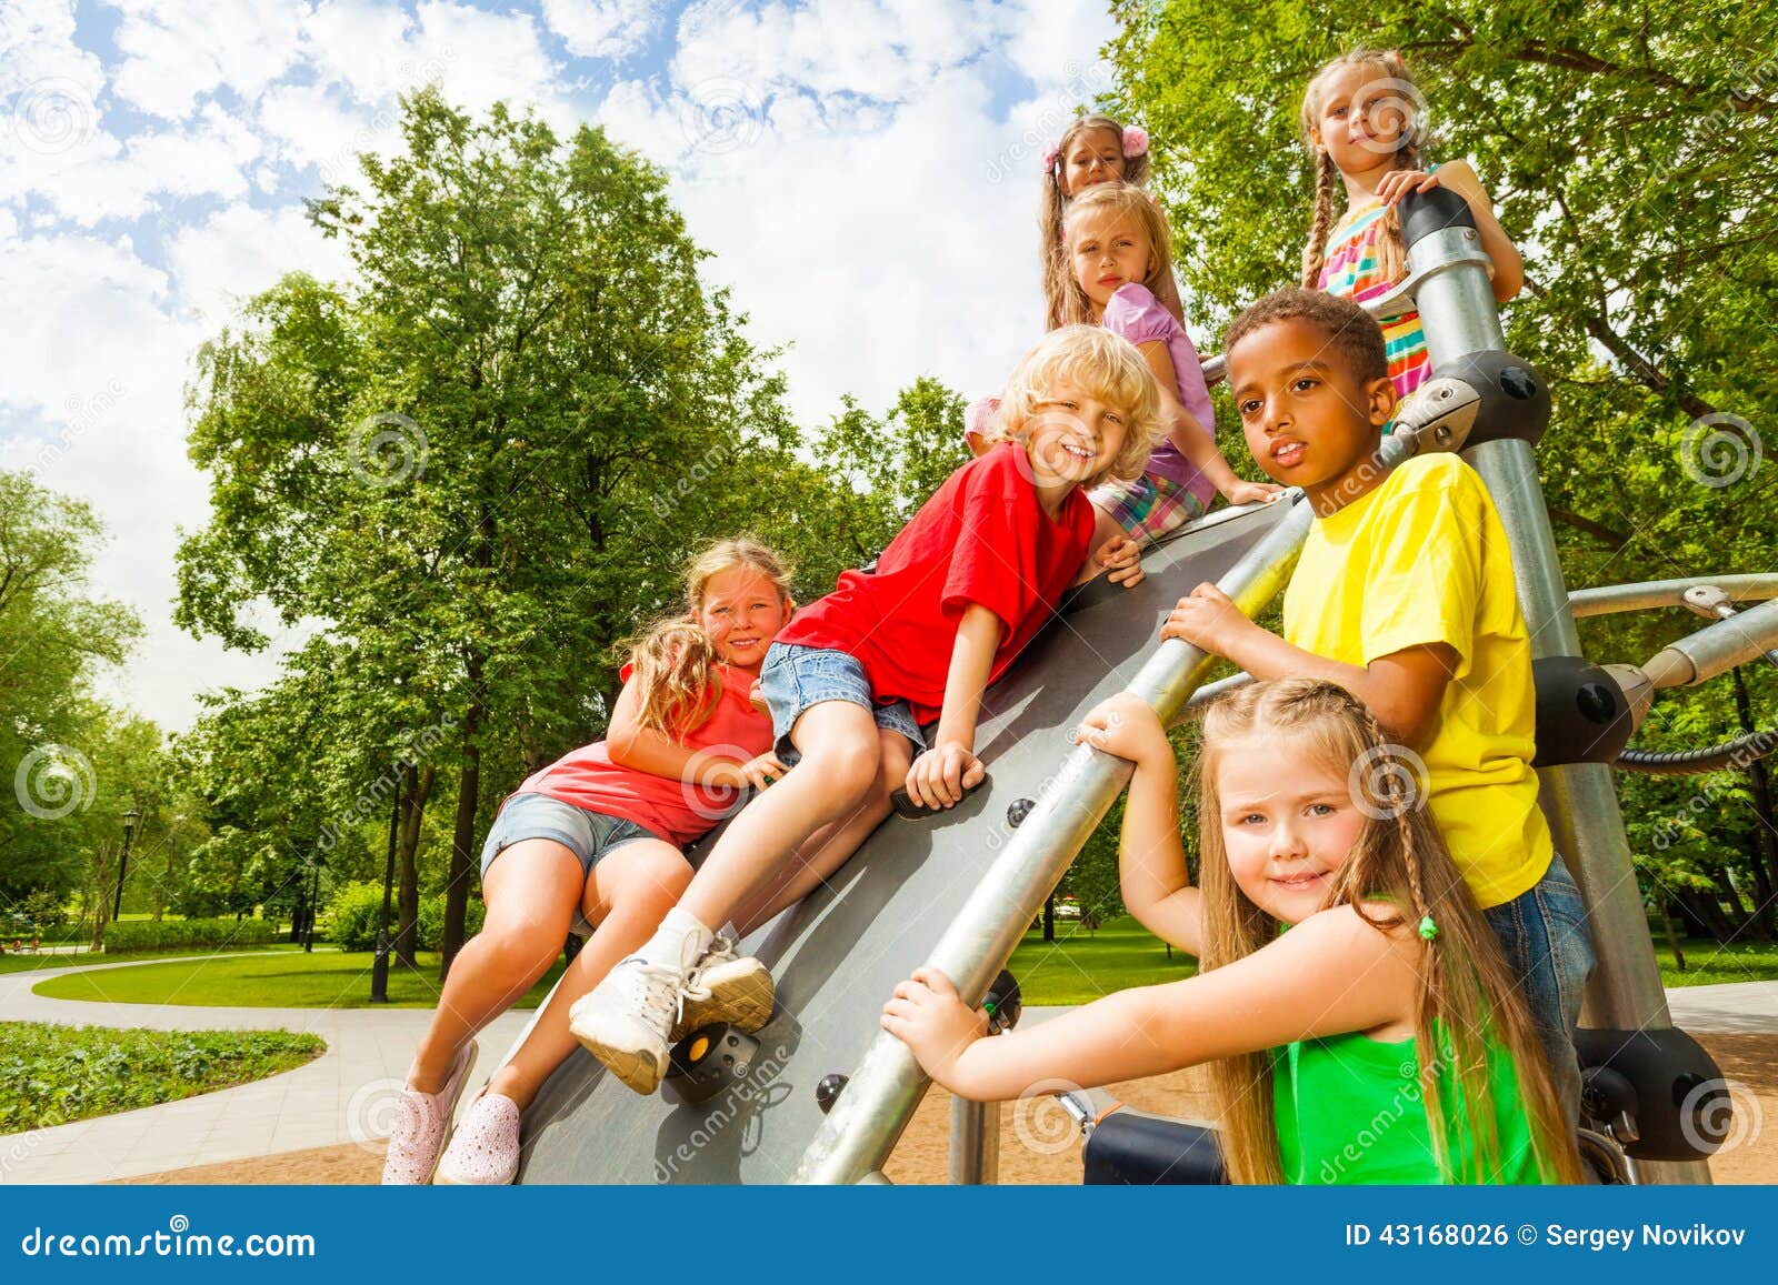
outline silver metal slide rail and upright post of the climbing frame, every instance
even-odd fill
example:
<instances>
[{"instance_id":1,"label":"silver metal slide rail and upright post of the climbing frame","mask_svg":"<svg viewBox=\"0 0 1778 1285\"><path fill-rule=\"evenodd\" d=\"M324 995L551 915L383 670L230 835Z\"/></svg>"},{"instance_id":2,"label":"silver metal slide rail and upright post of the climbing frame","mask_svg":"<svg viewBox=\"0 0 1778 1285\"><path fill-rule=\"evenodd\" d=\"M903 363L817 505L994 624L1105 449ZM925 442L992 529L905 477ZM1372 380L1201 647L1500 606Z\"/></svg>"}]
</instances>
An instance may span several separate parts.
<instances>
[{"instance_id":1,"label":"silver metal slide rail and upright post of the climbing frame","mask_svg":"<svg viewBox=\"0 0 1778 1285\"><path fill-rule=\"evenodd\" d=\"M1513 359L1504 352L1499 309L1488 279L1488 258L1481 251L1474 220L1462 199L1435 190L1408 203L1403 226L1408 242L1408 277L1398 291L1392 291L1390 302L1399 304L1399 299L1412 297L1426 331L1435 375L1446 370L1483 371L1490 387L1504 387L1508 398L1529 398L1531 386L1522 375L1515 375ZM1380 309L1373 307L1374 311ZM1463 384L1453 387L1463 389ZM1474 398L1472 389L1463 391ZM1547 398L1542 387L1534 393L1536 398ZM1469 418L1458 432L1458 443L1453 444L1460 444L1462 434L1476 418L1474 405L1465 411ZM1542 414L1547 414L1547 400L1542 403ZM1506 418L1513 418L1511 407ZM1533 656L1536 659L1579 656L1575 606L1581 606L1582 613L1597 613L1668 604L1677 601L1687 583L1597 590L1590 592L1591 597L1579 595L1582 601L1572 606L1563 587L1531 446L1540 425L1533 428L1520 437L1478 434L1490 439L1478 441L1465 455L1486 482L1501 512ZM1385 439L1380 464L1390 467L1414 448L1410 437ZM1243 611L1257 615L1284 588L1309 523L1309 505L1298 503L1220 581L1223 592ZM1712 583L1723 585L1737 599L1762 599L1778 592L1771 578L1728 576ZM1168 640L1156 647L1129 691L1147 700L1163 722L1170 723L1198 688L1207 666L1209 658L1202 650ZM1239 679L1225 682L1234 681ZM1127 762L1088 746L1079 746L1069 755L1053 786L932 953L930 963L949 974L960 994L974 999L987 992L994 974L1012 956L1024 926L1031 922L1044 898L1061 880L1106 809L1124 789L1129 773ZM1671 1017L1609 773L1609 766L1597 762L1540 770L1543 809L1556 846L1566 857L1586 898L1598 956L1582 1020L1591 1027L1666 1029L1671 1027ZM845 1095L804 1153L797 1180L825 1184L875 1180L925 1088L925 1075L907 1047L889 1034L877 1036ZM953 1155L953 1175L964 1180L992 1175L983 1123L987 1120L965 1109L960 1111L953 1129L953 1145L964 1152ZM1643 1161L1638 1169L1643 1182L1710 1180L1703 1161Z\"/></svg>"}]
</instances>

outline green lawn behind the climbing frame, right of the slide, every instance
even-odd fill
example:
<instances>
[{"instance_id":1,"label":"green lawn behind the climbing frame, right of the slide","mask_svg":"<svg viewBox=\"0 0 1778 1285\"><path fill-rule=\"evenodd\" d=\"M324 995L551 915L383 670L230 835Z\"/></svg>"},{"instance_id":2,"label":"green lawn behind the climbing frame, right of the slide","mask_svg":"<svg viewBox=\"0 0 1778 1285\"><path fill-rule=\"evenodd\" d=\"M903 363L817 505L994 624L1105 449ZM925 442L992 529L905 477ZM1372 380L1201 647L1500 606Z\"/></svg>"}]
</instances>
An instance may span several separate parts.
<instances>
[{"instance_id":1,"label":"green lawn behind the climbing frame, right of the slide","mask_svg":"<svg viewBox=\"0 0 1778 1285\"><path fill-rule=\"evenodd\" d=\"M1668 986L1712 986L1723 981L1778 979L1778 944L1744 942L1718 946L1712 940L1680 942L1686 972L1673 967L1673 953L1659 944L1661 979ZM1106 921L1088 933L1079 921L1058 919L1056 940L1044 944L1042 931L1029 931L1012 956L1012 976L1026 1004L1086 1004L1125 986L1189 978L1191 956L1166 947L1134 919Z\"/></svg>"}]
</instances>

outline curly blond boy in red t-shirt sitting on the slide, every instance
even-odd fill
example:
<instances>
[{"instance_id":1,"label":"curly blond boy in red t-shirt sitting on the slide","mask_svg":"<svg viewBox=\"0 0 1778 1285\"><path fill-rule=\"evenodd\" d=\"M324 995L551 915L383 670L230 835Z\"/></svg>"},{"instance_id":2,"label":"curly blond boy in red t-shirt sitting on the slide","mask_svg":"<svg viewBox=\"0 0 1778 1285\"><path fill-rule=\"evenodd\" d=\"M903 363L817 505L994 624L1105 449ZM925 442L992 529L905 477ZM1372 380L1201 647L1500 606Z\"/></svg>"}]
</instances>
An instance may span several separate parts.
<instances>
[{"instance_id":1,"label":"curly blond boy in red t-shirt sitting on the slide","mask_svg":"<svg viewBox=\"0 0 1778 1285\"><path fill-rule=\"evenodd\" d=\"M845 572L784 627L759 688L779 759L802 770L734 818L660 931L574 1004L574 1036L613 1075L654 1091L683 1001L702 1001L706 1013L713 1002L702 979L715 930L743 906L757 922L756 912L837 869L887 816L912 750L923 750L905 770L917 803L953 807L980 784L983 690L1086 563L1086 489L1141 473L1159 432L1154 379L1129 341L1092 325L1051 331L1008 382L996 446L939 487L873 574ZM1141 579L1136 558L1129 540L1097 555L1125 587ZM926 748L919 725L933 718ZM814 855L791 862L811 837L804 853ZM717 997L724 1011L709 1020L765 1024L772 978L763 967L750 976L759 994Z\"/></svg>"}]
</instances>

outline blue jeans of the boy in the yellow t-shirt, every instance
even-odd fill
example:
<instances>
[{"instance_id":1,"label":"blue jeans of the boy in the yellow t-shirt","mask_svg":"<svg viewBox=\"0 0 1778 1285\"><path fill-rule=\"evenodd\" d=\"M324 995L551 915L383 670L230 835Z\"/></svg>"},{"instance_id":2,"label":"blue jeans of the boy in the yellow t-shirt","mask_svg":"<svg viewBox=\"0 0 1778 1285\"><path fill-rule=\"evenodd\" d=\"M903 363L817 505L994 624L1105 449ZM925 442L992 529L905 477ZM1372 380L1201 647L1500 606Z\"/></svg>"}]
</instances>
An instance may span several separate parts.
<instances>
[{"instance_id":1,"label":"blue jeans of the boy in the yellow t-shirt","mask_svg":"<svg viewBox=\"0 0 1778 1285\"><path fill-rule=\"evenodd\" d=\"M1556 1095L1568 1118L1579 1120L1581 1061L1574 1052L1574 1027L1581 1022L1581 997L1595 963L1581 889L1556 853L1536 885L1481 914L1501 938L1506 965L1536 1022Z\"/></svg>"}]
</instances>

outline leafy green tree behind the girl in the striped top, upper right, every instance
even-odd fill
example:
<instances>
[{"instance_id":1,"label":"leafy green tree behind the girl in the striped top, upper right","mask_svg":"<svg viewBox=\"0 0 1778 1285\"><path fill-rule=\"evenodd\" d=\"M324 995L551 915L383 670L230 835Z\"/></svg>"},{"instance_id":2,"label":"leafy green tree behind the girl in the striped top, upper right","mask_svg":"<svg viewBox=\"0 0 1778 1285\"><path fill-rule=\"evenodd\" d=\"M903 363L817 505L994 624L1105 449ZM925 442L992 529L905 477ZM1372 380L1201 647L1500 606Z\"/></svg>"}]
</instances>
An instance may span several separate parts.
<instances>
[{"instance_id":1,"label":"leafy green tree behind the girl in the striped top, upper right","mask_svg":"<svg viewBox=\"0 0 1778 1285\"><path fill-rule=\"evenodd\" d=\"M1204 0L1124 0L1115 12L1109 105L1154 132L1154 185L1193 325L1214 334L1296 279L1312 185L1296 108L1314 69L1357 46L1401 50L1426 100L1428 158L1470 158L1526 252L1526 291L1504 322L1508 345L1556 395L1540 471L1568 585L1773 565L1769 0L1350 11L1268 0L1241 23ZM1609 617L1582 622L1582 640L1597 659L1641 661L1700 626L1678 611ZM1750 677L1771 720L1778 686ZM1639 739L1678 748L1737 732L1728 693L1712 686L1664 697ZM1760 869L1744 787L1718 791L1657 851L1654 826L1687 810L1696 782L1618 782L1645 880L1700 921L1716 905L1719 931L1746 924L1778 871Z\"/></svg>"}]
</instances>

